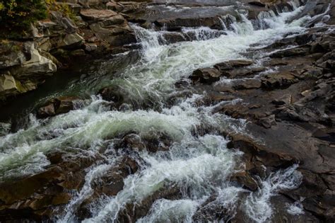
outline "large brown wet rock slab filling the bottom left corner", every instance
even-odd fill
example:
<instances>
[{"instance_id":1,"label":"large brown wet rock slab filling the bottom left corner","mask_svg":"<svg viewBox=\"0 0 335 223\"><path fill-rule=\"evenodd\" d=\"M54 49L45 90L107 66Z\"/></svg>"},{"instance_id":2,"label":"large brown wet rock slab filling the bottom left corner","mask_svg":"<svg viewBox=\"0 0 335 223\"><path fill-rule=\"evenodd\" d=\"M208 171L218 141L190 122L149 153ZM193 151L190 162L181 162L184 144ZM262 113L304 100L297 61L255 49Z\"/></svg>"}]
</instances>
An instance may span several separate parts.
<instances>
[{"instance_id":1,"label":"large brown wet rock slab filling the bottom left corner","mask_svg":"<svg viewBox=\"0 0 335 223\"><path fill-rule=\"evenodd\" d=\"M64 205L69 203L73 193L85 181L85 171L99 156L63 159L61 154L50 154L57 166L51 166L42 173L27 176L16 181L0 183L1 220L28 218L41 222L64 214ZM54 157L54 158L52 158Z\"/></svg>"}]
</instances>

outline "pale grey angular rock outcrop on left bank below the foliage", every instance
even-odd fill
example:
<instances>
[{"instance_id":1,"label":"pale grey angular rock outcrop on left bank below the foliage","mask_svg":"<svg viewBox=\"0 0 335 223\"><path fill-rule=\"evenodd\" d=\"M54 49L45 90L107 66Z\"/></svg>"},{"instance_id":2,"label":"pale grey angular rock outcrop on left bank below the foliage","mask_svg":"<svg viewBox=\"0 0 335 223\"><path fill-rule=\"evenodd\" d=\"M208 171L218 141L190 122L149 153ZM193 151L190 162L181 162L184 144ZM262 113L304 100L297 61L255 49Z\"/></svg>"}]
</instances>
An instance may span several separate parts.
<instances>
[{"instance_id":1,"label":"pale grey angular rock outcrop on left bank below the foliage","mask_svg":"<svg viewBox=\"0 0 335 223\"><path fill-rule=\"evenodd\" d=\"M47 49L45 41L39 42ZM56 64L40 54L36 42L8 41L1 45L0 99L34 90L45 76L57 71ZM10 46L12 51L6 50Z\"/></svg>"}]
</instances>

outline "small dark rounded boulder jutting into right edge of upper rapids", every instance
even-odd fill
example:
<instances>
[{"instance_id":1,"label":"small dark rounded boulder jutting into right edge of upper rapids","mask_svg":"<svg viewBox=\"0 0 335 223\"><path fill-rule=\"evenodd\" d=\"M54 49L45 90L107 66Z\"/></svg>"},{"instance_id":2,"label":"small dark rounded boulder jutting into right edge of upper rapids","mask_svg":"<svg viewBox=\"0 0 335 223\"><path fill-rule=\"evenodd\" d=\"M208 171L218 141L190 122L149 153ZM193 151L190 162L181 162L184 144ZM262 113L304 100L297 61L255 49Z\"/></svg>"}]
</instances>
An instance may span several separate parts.
<instances>
[{"instance_id":1,"label":"small dark rounded boulder jutting into right edge of upper rapids","mask_svg":"<svg viewBox=\"0 0 335 223\"><path fill-rule=\"evenodd\" d=\"M196 69L192 76L189 78L192 79L194 82L201 82L204 84L211 84L215 81L220 80L221 72L215 68L203 68L203 69Z\"/></svg>"}]
</instances>

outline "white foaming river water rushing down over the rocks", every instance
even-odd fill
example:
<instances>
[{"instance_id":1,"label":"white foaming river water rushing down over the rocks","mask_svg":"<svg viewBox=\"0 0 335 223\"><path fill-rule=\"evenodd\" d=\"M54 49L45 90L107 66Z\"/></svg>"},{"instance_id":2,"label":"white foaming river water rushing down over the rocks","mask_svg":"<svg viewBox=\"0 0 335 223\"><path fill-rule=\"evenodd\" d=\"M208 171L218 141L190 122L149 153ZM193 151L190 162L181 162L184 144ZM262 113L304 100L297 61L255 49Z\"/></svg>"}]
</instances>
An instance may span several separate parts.
<instances>
[{"instance_id":1,"label":"white foaming river water rushing down over the rocks","mask_svg":"<svg viewBox=\"0 0 335 223\"><path fill-rule=\"evenodd\" d=\"M114 166L119 154L113 149L113 140L127 132L141 137L163 134L172 140L168 151L150 153L138 151L134 159L140 170L124 179L124 188L113 197L100 198L92 205L93 217L84 222L113 222L129 203L141 201L166 188L179 188L180 199L155 200L148 215L139 222L192 222L192 216L211 195L216 198L208 205L228 210L233 216L242 193L242 209L255 222L266 222L271 217L269 199L276 191L293 189L300 184L301 176L296 166L273 173L261 181L259 191L249 191L229 183L228 178L243 168L242 152L227 149L227 139L220 132L244 132L245 120L235 120L213 113L218 105L198 106L204 95L180 98L175 104L165 106L167 98L176 91L175 83L187 78L194 69L211 67L218 62L242 59L250 45L269 45L286 33L301 33L304 23L312 18L303 17L291 23L290 18L302 11L295 6L293 12L279 16L259 18L261 27L254 30L251 21L240 13L242 20L235 21L224 30L211 33L208 28L182 30L194 32L195 41L166 44L165 31L153 31L132 25L142 45L141 59L122 69L113 79L90 82L94 89L118 86L136 110L110 110L110 102L92 96L78 104L76 110L47 120L37 120L30 115L30 124L18 132L0 138L0 181L38 173L49 164L46 154L62 151L73 156L93 156L100 147L108 147L102 156L103 164L86 170L86 183L78 191L66 214L57 217L59 222L76 222L74 213L81 202L93 193L91 182L103 176ZM224 35L219 35L218 32ZM85 86L83 84L83 86ZM152 109L141 109L150 101ZM234 103L234 101L224 102ZM206 134L200 134L206 129ZM129 155L132 156L132 155Z\"/></svg>"}]
</instances>

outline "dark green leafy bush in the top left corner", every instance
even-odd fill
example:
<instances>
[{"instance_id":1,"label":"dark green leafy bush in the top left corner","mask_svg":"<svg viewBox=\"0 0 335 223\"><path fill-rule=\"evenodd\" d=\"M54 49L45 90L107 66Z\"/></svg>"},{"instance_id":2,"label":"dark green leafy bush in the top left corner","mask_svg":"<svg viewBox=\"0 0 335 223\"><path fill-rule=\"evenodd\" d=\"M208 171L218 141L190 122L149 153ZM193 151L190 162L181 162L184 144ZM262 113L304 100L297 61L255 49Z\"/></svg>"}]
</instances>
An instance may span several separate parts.
<instances>
[{"instance_id":1,"label":"dark green leafy bush in the top left corner","mask_svg":"<svg viewBox=\"0 0 335 223\"><path fill-rule=\"evenodd\" d=\"M30 23L47 18L44 0L0 0L0 35L20 37Z\"/></svg>"}]
</instances>

